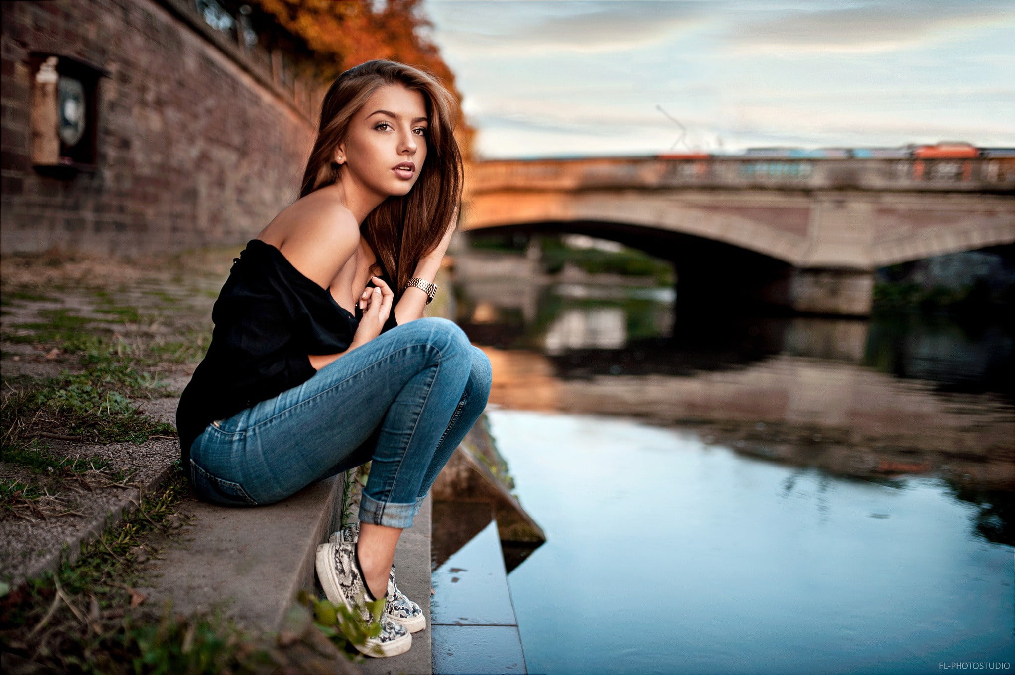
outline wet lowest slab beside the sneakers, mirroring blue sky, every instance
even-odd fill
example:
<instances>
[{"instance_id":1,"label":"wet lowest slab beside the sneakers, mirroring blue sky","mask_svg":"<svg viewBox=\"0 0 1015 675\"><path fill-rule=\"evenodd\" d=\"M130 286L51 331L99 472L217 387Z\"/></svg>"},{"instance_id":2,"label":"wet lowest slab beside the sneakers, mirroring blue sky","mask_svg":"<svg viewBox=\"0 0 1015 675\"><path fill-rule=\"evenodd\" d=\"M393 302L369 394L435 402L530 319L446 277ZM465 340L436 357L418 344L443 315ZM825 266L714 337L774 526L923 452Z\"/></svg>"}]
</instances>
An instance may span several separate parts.
<instances>
[{"instance_id":1,"label":"wet lowest slab beside the sneakers, mirroring blue sky","mask_svg":"<svg viewBox=\"0 0 1015 675\"><path fill-rule=\"evenodd\" d=\"M434 533L442 546L461 545L464 533L478 533L447 555L431 575L432 672L528 672L493 507L436 502L434 512L437 522L453 525L450 533Z\"/></svg>"}]
</instances>

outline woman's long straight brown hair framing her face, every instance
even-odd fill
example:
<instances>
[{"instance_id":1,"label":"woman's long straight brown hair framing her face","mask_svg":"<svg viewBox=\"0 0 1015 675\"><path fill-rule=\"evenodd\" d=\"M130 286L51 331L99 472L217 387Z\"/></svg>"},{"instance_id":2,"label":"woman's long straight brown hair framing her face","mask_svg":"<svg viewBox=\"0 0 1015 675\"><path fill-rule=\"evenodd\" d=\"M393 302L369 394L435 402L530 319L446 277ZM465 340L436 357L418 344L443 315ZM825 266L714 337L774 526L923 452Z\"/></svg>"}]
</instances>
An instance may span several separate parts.
<instances>
[{"instance_id":1,"label":"woman's long straight brown hair framing her face","mask_svg":"<svg viewBox=\"0 0 1015 675\"><path fill-rule=\"evenodd\" d=\"M412 279L416 264L441 242L455 207L462 201L462 153L454 135L458 104L441 81L419 68L384 59L367 61L339 75L321 104L321 122L307 160L299 198L339 178L343 169L334 162L335 149L370 95L389 84L419 91L429 120L426 159L416 183L407 195L382 202L359 227L395 284L392 290L397 301Z\"/></svg>"}]
</instances>

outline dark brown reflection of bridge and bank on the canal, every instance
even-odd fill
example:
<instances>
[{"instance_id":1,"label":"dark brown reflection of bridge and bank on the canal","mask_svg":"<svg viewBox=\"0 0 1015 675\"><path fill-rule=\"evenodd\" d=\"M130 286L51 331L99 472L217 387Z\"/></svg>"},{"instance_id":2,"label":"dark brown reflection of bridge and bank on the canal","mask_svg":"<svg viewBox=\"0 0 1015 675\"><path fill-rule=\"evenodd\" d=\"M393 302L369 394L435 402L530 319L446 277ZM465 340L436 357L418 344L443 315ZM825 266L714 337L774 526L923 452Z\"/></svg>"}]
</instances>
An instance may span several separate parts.
<instances>
[{"instance_id":1,"label":"dark brown reflection of bridge and bank on the canal","mask_svg":"<svg viewBox=\"0 0 1015 675\"><path fill-rule=\"evenodd\" d=\"M459 321L494 365L493 402L691 427L836 475L940 476L979 503L1015 483L1000 325L710 315L674 328L671 289L504 283L459 293Z\"/></svg>"}]
</instances>

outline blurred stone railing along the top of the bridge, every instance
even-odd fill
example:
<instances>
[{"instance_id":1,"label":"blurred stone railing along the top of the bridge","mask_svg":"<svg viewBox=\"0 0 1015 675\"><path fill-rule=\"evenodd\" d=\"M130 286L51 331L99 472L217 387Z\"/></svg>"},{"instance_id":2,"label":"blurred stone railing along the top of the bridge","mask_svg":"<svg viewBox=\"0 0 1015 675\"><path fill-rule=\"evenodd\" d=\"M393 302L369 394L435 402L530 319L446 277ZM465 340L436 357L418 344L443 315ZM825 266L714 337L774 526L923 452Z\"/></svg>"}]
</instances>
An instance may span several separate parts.
<instances>
[{"instance_id":1,"label":"blurred stone railing along the top of the bridge","mask_svg":"<svg viewBox=\"0 0 1015 675\"><path fill-rule=\"evenodd\" d=\"M581 159L472 164L474 192L609 188L1010 192L1015 158L992 159Z\"/></svg>"}]
</instances>

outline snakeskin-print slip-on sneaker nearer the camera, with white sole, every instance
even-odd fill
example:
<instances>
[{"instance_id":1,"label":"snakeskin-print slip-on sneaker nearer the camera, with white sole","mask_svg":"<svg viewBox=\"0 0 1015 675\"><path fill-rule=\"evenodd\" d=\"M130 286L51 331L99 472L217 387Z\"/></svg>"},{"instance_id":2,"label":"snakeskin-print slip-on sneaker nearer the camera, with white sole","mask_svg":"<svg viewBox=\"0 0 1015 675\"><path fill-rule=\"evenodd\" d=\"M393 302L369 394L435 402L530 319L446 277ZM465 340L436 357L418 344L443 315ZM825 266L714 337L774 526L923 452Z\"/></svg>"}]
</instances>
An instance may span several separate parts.
<instances>
[{"instance_id":1,"label":"snakeskin-print slip-on sneaker nearer the camera, with white sole","mask_svg":"<svg viewBox=\"0 0 1015 675\"><path fill-rule=\"evenodd\" d=\"M363 602L369 597L356 544L346 541L323 543L318 546L316 567L321 588L332 604L343 603L367 623L374 621L370 610ZM387 604L387 603L386 603ZM371 657L389 657L404 654L412 647L412 635L401 623L381 615L381 634L370 638L365 645L356 645L357 650Z\"/></svg>"}]
</instances>

